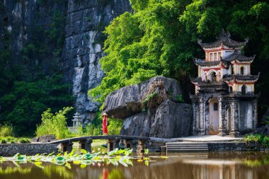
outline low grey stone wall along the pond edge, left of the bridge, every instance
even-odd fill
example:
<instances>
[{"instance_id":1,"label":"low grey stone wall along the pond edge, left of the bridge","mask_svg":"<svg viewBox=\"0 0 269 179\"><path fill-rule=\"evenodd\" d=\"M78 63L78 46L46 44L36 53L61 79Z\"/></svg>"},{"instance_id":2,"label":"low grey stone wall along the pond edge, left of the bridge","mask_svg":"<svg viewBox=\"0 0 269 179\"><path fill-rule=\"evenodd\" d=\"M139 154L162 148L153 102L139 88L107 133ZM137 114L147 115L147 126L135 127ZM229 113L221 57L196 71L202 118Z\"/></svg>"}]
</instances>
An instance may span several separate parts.
<instances>
[{"instance_id":1,"label":"low grey stone wall along the pond edge, left of the bridge","mask_svg":"<svg viewBox=\"0 0 269 179\"><path fill-rule=\"evenodd\" d=\"M17 153L32 156L58 152L57 144L0 144L0 156L13 156Z\"/></svg>"}]
</instances>

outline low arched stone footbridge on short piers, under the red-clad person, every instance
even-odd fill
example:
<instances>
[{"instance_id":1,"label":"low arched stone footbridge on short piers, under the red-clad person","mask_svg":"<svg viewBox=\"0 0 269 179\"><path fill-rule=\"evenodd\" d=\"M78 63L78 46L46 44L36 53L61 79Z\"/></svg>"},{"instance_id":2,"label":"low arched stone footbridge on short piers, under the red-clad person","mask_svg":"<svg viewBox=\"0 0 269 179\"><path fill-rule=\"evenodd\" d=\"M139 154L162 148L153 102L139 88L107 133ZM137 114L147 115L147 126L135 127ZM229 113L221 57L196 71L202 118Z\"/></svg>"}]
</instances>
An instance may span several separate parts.
<instances>
[{"instance_id":1,"label":"low arched stone footbridge on short piers, under the red-clad person","mask_svg":"<svg viewBox=\"0 0 269 179\"><path fill-rule=\"evenodd\" d=\"M175 139L163 139L156 137L139 137L139 136L125 136L125 135L107 135L107 136L86 136L86 137L73 137L69 139L62 139L48 144L60 144L60 150L62 152L70 152L73 148L73 142L79 142L79 150L85 149L91 152L91 143L94 139L106 139L108 142L108 151L112 151L115 148L120 147L120 142L123 141L125 149L137 149L137 154L143 154L145 144L151 142L164 144L166 142L175 142ZM137 144L137 146L135 146Z\"/></svg>"}]
</instances>

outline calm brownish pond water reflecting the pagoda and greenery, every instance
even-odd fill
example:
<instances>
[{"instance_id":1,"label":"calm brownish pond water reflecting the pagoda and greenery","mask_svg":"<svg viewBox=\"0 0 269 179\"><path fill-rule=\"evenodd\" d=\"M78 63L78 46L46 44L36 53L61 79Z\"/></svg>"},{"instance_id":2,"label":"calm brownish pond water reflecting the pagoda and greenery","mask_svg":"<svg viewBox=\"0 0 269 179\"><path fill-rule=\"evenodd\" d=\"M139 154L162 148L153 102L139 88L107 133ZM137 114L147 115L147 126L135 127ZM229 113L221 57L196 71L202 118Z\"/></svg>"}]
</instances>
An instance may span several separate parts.
<instances>
[{"instance_id":1,"label":"calm brownish pond water reflecting the pagoda and greenery","mask_svg":"<svg viewBox=\"0 0 269 179\"><path fill-rule=\"evenodd\" d=\"M126 163L69 161L63 165L2 161L1 179L86 179L86 178L182 178L182 179L268 179L269 154L265 152L223 152L168 154L167 157L147 154L130 156Z\"/></svg>"}]
</instances>

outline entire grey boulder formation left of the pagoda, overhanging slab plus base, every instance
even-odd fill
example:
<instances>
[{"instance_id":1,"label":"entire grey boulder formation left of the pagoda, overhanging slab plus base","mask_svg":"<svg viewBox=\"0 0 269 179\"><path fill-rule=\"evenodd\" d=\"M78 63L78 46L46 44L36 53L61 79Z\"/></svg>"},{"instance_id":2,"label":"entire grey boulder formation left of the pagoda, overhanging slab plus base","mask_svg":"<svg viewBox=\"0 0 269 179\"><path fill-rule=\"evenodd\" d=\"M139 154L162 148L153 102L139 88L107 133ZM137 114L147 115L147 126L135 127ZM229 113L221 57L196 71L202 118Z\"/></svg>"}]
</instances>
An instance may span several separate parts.
<instances>
[{"instance_id":1,"label":"entire grey boulder formation left of the pagoda, overhanging slab plus base","mask_svg":"<svg viewBox=\"0 0 269 179\"><path fill-rule=\"evenodd\" d=\"M163 81L168 93L161 104L143 112L142 101L154 83ZM158 88L155 89L158 91ZM191 105L179 103L181 87L173 79L157 76L149 81L120 88L105 98L104 112L108 117L124 120L122 135L173 138L188 136L193 119Z\"/></svg>"}]
</instances>

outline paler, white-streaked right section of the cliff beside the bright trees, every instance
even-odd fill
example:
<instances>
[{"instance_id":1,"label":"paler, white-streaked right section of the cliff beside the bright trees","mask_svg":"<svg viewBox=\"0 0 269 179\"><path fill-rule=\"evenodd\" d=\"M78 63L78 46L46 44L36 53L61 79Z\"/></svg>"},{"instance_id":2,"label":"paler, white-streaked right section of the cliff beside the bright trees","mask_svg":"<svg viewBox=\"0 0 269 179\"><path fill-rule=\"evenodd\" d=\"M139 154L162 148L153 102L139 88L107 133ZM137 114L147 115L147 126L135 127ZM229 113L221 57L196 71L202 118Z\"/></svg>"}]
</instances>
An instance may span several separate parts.
<instances>
[{"instance_id":1,"label":"paler, white-streaked right section of the cliff beside the bright trees","mask_svg":"<svg viewBox=\"0 0 269 179\"><path fill-rule=\"evenodd\" d=\"M73 84L76 111L82 119L93 120L98 103L88 98L87 92L101 83L104 73L99 59L103 54L105 26L125 11L130 11L128 0L69 0L67 25L61 69L64 80Z\"/></svg>"}]
</instances>

